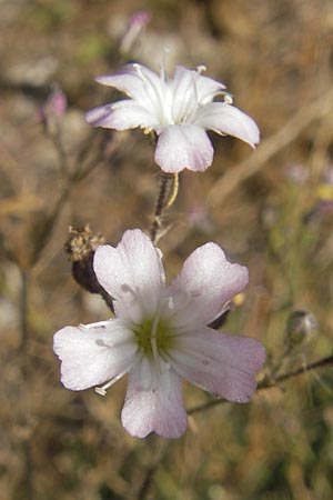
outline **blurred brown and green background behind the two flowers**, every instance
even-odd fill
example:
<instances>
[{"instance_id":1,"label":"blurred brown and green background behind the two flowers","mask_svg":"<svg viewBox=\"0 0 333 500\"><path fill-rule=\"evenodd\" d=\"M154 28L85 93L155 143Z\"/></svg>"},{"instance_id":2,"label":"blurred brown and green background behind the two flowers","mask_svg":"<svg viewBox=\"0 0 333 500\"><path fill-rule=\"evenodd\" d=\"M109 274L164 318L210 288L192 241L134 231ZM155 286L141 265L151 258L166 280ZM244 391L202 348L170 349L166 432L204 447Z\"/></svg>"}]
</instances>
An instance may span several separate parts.
<instances>
[{"instance_id":1,"label":"blurred brown and green background behind the two flowers","mask_svg":"<svg viewBox=\"0 0 333 500\"><path fill-rule=\"evenodd\" d=\"M182 172L159 242L169 280L206 241L249 267L223 329L265 344L262 386L332 354L332 1L1 0L0 29L0 498L331 500L332 369L139 440L120 423L125 380L65 390L52 336L110 316L71 277L69 227L117 244L149 230L158 196L148 137L84 123L119 97L93 79L159 70L169 47L170 74L204 64L262 133L255 151L212 134L213 166ZM189 409L214 400L184 392Z\"/></svg>"}]
</instances>

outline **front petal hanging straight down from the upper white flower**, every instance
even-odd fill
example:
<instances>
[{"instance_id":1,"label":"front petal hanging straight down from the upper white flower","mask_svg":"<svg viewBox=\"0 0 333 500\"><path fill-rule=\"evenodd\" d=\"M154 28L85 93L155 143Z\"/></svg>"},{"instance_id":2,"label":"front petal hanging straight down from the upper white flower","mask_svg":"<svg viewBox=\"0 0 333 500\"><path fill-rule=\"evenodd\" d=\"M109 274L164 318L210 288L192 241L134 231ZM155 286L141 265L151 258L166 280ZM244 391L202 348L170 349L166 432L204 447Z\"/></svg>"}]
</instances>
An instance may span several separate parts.
<instances>
[{"instance_id":1,"label":"front petal hanging straight down from the upper white flower","mask_svg":"<svg viewBox=\"0 0 333 500\"><path fill-rule=\"evenodd\" d=\"M214 150L205 131L193 124L168 126L162 129L155 161L164 172L183 169L204 171L213 161Z\"/></svg>"}]
</instances>

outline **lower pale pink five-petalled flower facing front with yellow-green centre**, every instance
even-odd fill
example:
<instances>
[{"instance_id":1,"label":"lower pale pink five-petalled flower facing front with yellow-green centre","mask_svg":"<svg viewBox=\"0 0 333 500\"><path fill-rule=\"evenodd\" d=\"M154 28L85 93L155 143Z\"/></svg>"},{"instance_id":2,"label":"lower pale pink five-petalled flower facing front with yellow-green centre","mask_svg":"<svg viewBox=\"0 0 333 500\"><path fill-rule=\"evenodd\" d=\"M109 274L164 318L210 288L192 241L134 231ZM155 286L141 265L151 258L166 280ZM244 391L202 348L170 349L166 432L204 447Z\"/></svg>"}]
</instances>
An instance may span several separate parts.
<instances>
[{"instance_id":1,"label":"lower pale pink five-petalled flower facing front with yellow-green centre","mask_svg":"<svg viewBox=\"0 0 333 500\"><path fill-rule=\"evenodd\" d=\"M179 438L188 417L182 379L230 401L246 402L265 360L262 344L209 324L248 283L246 268L206 243L165 284L161 252L139 229L118 247L101 246L94 271L113 298L115 318L65 327L54 336L61 381L71 390L105 390L129 376L122 424L131 436Z\"/></svg>"}]
</instances>

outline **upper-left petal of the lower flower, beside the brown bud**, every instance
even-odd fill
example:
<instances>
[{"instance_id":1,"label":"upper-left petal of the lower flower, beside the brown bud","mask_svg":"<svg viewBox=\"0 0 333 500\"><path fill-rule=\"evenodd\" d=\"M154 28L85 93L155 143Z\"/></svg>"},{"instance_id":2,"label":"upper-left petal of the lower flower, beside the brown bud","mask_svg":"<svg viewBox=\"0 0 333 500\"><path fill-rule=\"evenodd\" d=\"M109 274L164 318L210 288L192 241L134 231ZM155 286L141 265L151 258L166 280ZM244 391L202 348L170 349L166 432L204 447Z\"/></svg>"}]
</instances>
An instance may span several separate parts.
<instances>
[{"instance_id":1,"label":"upper-left petal of the lower flower, beside the brown bud","mask_svg":"<svg viewBox=\"0 0 333 500\"><path fill-rule=\"evenodd\" d=\"M117 248L99 247L93 268L101 286L118 301L118 316L135 323L153 316L164 290L164 270L159 250L140 229L125 231Z\"/></svg>"}]
</instances>

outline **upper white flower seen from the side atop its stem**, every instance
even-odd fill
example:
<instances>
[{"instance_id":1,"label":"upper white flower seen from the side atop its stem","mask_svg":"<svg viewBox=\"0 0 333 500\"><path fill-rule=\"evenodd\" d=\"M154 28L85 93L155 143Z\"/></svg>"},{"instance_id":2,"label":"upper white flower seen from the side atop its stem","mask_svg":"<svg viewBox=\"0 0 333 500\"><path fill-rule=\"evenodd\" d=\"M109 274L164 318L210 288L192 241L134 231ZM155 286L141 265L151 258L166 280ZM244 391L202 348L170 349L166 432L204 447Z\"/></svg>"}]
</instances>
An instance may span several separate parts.
<instances>
[{"instance_id":1,"label":"upper white flower seen from the side atop its stem","mask_svg":"<svg viewBox=\"0 0 333 500\"><path fill-rule=\"evenodd\" d=\"M213 161L213 147L205 130L236 137L254 147L259 129L252 118L231 104L225 86L181 66L173 78L158 76L144 66L127 64L115 74L97 81L114 87L130 99L90 110L93 127L125 130L140 127L158 134L155 162L165 172L203 171ZM222 94L224 102L213 102Z\"/></svg>"}]
</instances>

